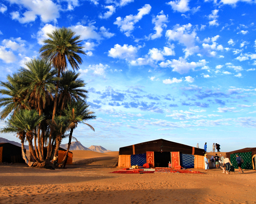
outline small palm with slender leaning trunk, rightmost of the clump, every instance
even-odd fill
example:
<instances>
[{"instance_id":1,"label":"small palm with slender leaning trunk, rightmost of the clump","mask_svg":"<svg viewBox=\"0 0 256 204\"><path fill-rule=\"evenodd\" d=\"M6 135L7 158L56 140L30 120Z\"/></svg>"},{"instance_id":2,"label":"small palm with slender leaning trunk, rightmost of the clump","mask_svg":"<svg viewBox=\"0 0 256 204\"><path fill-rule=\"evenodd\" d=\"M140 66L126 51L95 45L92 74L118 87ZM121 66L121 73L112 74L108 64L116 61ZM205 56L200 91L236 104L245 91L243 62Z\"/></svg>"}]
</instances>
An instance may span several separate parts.
<instances>
[{"instance_id":1,"label":"small palm with slender leaning trunk, rightmost of the clump","mask_svg":"<svg viewBox=\"0 0 256 204\"><path fill-rule=\"evenodd\" d=\"M69 134L69 143L68 143L67 152L61 164L59 165L59 167L61 167L65 163L68 157L68 152L71 145L73 131L77 127L77 124L78 123L86 124L91 128L91 130L95 131L92 125L84 122L87 120L96 119L96 116L92 115L94 114L94 112L90 111L88 108L89 108L89 105L86 102L77 101L72 103L71 105L68 104L67 108L63 111L66 117L68 118L68 120L70 121L70 126L69 126L70 134Z\"/></svg>"}]
</instances>

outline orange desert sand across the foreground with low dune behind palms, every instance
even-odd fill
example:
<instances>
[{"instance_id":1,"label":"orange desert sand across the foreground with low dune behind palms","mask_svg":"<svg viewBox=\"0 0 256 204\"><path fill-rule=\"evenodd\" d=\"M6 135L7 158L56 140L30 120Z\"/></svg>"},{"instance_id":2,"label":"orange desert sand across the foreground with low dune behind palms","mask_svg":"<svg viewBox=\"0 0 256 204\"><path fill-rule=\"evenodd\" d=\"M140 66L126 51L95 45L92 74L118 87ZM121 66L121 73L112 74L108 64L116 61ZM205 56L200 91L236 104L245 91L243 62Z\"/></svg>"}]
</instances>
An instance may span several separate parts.
<instances>
[{"instance_id":1,"label":"orange desert sand across the foreground with low dune behind palms","mask_svg":"<svg viewBox=\"0 0 256 204\"><path fill-rule=\"evenodd\" d=\"M219 154L218 154L219 155ZM256 171L110 173L118 152L73 151L67 169L0 165L0 203L256 203Z\"/></svg>"}]
</instances>

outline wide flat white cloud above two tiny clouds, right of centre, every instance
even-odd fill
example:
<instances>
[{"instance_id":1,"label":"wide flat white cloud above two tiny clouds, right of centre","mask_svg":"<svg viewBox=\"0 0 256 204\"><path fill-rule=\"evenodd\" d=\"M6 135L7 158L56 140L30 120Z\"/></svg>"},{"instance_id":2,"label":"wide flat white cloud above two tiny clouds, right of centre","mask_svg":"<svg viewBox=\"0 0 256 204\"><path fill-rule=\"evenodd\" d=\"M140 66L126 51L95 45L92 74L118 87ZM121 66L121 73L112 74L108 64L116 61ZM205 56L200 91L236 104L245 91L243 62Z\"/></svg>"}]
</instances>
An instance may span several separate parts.
<instances>
[{"instance_id":1,"label":"wide flat white cloud above two tiny clouds, right of centre","mask_svg":"<svg viewBox=\"0 0 256 204\"><path fill-rule=\"evenodd\" d=\"M177 71L180 74L189 72L190 69L194 70L197 67L203 67L206 65L205 60L199 60L198 62L187 62L182 57L179 60L167 60L166 62L161 62L159 65L161 67L172 67L173 71Z\"/></svg>"}]
</instances>

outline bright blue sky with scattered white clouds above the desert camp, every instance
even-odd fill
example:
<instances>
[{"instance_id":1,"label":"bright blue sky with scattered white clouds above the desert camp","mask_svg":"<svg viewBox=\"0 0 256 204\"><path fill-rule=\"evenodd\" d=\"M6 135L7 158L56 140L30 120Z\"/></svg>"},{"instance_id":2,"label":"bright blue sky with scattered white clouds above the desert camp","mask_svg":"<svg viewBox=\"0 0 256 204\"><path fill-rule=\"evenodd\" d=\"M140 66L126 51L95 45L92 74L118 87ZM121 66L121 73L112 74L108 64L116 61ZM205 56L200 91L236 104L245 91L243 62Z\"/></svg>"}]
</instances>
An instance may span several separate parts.
<instances>
[{"instance_id":1,"label":"bright blue sky with scattered white clouds above the desert camp","mask_svg":"<svg viewBox=\"0 0 256 204\"><path fill-rule=\"evenodd\" d=\"M255 10L254 0L2 0L0 81L67 27L87 53L78 71L97 116L95 132L73 133L84 146L255 147Z\"/></svg>"}]
</instances>

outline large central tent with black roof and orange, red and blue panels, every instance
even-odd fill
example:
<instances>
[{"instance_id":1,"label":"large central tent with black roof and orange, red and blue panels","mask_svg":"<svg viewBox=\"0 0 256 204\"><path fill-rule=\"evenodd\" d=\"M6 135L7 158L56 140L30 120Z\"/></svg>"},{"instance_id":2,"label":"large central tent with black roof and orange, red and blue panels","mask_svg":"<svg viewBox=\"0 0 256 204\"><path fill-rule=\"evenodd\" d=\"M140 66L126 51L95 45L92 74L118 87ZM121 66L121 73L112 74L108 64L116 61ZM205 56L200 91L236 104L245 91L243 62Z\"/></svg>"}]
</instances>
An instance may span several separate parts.
<instances>
[{"instance_id":1,"label":"large central tent with black roof and orange, red and blue panels","mask_svg":"<svg viewBox=\"0 0 256 204\"><path fill-rule=\"evenodd\" d=\"M148 163L150 167L168 167L168 163L171 163L172 167L181 165L186 168L194 168L195 162L198 163L198 157L194 155L203 157L204 149L158 139L120 147L118 166L142 166L144 163Z\"/></svg>"}]
</instances>

